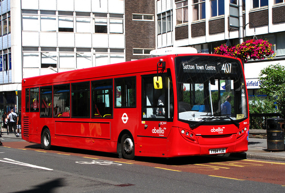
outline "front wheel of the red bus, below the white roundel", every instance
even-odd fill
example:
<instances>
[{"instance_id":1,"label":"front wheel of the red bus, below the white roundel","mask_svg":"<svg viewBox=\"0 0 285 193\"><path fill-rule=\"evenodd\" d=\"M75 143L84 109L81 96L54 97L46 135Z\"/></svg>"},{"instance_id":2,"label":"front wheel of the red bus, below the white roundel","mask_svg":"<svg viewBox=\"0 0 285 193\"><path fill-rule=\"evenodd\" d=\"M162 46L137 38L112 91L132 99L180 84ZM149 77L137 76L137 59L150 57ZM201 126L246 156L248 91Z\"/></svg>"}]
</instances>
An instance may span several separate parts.
<instances>
[{"instance_id":1,"label":"front wheel of the red bus, below the white roundel","mask_svg":"<svg viewBox=\"0 0 285 193\"><path fill-rule=\"evenodd\" d=\"M121 138L121 151L124 159L132 160L135 157L135 143L134 139L128 135L124 134Z\"/></svg>"}]
</instances>

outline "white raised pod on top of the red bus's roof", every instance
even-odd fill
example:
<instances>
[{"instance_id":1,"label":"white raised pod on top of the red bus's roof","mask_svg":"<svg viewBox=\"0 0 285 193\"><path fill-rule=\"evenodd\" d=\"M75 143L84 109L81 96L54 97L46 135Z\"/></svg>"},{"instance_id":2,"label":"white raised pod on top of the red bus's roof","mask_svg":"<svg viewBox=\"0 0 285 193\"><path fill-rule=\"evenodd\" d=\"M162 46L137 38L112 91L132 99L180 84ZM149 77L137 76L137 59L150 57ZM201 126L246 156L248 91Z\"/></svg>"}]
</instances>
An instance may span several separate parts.
<instances>
[{"instance_id":1,"label":"white raised pod on top of the red bus's roof","mask_svg":"<svg viewBox=\"0 0 285 193\"><path fill-rule=\"evenodd\" d=\"M197 54L196 48L192 47L167 47L150 51L153 57L161 55L175 55L175 54Z\"/></svg>"}]
</instances>

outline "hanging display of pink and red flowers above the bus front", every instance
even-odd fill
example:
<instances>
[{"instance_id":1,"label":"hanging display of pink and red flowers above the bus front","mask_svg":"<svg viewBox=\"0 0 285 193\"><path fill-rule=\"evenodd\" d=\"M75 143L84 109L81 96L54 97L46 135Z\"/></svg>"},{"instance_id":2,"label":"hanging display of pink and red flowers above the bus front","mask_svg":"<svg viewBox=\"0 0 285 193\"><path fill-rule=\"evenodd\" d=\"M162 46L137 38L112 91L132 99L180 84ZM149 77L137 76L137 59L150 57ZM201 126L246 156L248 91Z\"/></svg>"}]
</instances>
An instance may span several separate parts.
<instances>
[{"instance_id":1,"label":"hanging display of pink and red flowers above the bus front","mask_svg":"<svg viewBox=\"0 0 285 193\"><path fill-rule=\"evenodd\" d=\"M270 44L267 40L262 39L247 40L242 44L232 47L222 44L221 46L214 48L214 50L214 54L239 57L244 59L245 62L247 62L248 59L264 59L274 54L272 44Z\"/></svg>"}]
</instances>

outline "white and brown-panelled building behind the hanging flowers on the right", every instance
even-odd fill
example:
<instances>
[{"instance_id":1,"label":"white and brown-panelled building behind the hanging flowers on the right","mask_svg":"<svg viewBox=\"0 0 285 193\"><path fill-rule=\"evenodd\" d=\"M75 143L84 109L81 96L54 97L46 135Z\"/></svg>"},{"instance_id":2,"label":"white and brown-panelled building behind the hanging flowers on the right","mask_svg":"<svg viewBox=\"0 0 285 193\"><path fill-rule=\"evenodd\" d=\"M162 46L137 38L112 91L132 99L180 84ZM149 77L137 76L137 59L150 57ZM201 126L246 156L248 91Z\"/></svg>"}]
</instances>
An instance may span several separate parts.
<instances>
[{"instance_id":1,"label":"white and brown-panelled building behind the hanging flowers on the right","mask_svg":"<svg viewBox=\"0 0 285 193\"><path fill-rule=\"evenodd\" d=\"M270 64L285 65L285 0L242 0L244 40L267 39L274 45L273 60L249 60L245 76L249 95L257 94L260 70ZM239 43L239 32L229 25L229 3L238 0L156 0L157 48L195 47L199 53L230 40Z\"/></svg>"}]
</instances>

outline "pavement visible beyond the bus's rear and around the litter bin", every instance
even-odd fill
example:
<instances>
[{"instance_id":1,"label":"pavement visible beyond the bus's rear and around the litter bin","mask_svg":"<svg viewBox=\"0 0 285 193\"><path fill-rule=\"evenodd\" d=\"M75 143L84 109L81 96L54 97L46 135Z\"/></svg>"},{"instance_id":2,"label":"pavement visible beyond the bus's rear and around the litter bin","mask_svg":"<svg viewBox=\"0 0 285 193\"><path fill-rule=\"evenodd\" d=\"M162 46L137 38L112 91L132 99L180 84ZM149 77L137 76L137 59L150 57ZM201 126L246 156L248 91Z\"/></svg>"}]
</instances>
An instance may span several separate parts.
<instances>
[{"instance_id":1,"label":"pavement visible beyond the bus's rear and around the litter bin","mask_svg":"<svg viewBox=\"0 0 285 193\"><path fill-rule=\"evenodd\" d=\"M13 133L7 135L6 130L2 129L1 138L15 138L22 139L21 133L20 137L17 138ZM0 140L1 140L0 138ZM3 142L3 141L2 141ZM256 159L256 160L268 160L268 161L278 161L285 162L285 151L270 151L267 149L267 139L266 138L249 138L248 151L244 153L230 154L232 157L239 157L243 159Z\"/></svg>"}]
</instances>

